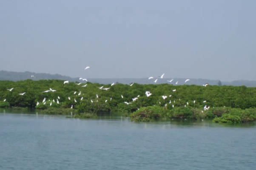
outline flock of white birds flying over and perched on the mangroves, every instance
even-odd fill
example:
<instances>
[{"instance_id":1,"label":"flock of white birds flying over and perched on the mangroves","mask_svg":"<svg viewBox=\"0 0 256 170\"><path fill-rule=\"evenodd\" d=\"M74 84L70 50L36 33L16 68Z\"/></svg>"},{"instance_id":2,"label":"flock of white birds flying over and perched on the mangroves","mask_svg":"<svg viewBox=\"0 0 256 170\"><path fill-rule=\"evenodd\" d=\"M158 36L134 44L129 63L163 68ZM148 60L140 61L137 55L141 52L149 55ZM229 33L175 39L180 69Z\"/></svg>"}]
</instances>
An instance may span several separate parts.
<instances>
[{"instance_id":1,"label":"flock of white birds flying over and perched on the mangroves","mask_svg":"<svg viewBox=\"0 0 256 170\"><path fill-rule=\"evenodd\" d=\"M85 70L88 69L88 68L90 68L90 67L86 67ZM159 77L160 79L163 79L164 75L165 75L165 74L162 74L162 76L157 76L157 77ZM31 76L31 77L34 77L34 76ZM158 78L155 79L154 77L149 77L148 79L153 79L154 82L156 83ZM80 80L87 82L87 79L80 78ZM174 79L168 80L168 82L172 82L173 80L174 80ZM190 81L190 79L186 79L186 80L185 80L185 83L188 82L188 81ZM66 83L69 83L69 82L68 82L68 81L64 81L63 84L66 84ZM82 83L80 82L80 83L76 83L76 84L77 84L77 85L81 85ZM178 81L177 81L175 84L177 85L177 84L178 84ZM81 87L86 87L86 85L87 85L87 84L82 85ZM113 86L113 85L114 85L114 82L111 84L111 86ZM132 86L132 85L134 85L134 83L130 84L130 86ZM208 83L206 83L206 84L203 85L203 86L206 87L207 85L208 85ZM98 88L101 89L101 90L108 90L108 89L110 89L110 88L103 88L103 87L104 87L104 86L98 87ZM13 89L14 89L14 88L7 89L7 90L12 91ZM49 88L49 90L43 91L43 93L55 92L55 91L56 91L56 90L53 90L53 89ZM175 92L176 89L174 89L174 90L172 90L172 91ZM76 94L76 93L77 93L77 91L74 92L74 94ZM22 95L22 96L23 96L24 94L26 94L26 92L21 93L21 94L19 94L19 95ZM77 95L80 96L80 95L81 95L81 91L80 91ZM147 97L149 97L149 96L151 96L152 94L150 93L150 91L146 91L146 92L145 92L145 95L146 95ZM99 97L98 94L96 94L96 97L97 97L97 98ZM121 97L123 98L122 95L121 95ZM135 101L138 99L138 97L139 97L139 95L138 95L137 97L133 98L133 99L132 99L132 100L133 100L132 102L135 102ZM171 97L171 95L169 95L169 97ZM163 98L163 99L166 99L166 98L168 98L168 96L162 96L162 98ZM60 104L59 99L60 99L60 97L58 96L58 99L56 100L57 104ZM71 100L70 97L68 97L68 99ZM81 97L80 100L82 100L82 99L83 99L83 97ZM110 98L110 101L111 101L111 99L112 99L112 98ZM179 99L179 100L180 100L180 99ZM5 102L6 99L4 99L3 101ZM48 101L50 101L50 106L52 105L52 102L55 102L54 99L53 99L52 101L51 101L50 99L48 99ZM77 100L74 99L74 102L77 102ZM94 101L91 100L91 102L93 103ZM95 102L98 102L98 100L96 100ZM108 100L105 100L105 102L108 102ZM173 102L175 103L175 100L174 100ZM203 102L205 103L206 101L203 101ZM46 98L43 99L43 102L42 102L42 103L43 103L43 105L46 105ZM124 103L127 104L127 105L131 104L131 102L124 102ZM161 102L159 102L159 103L161 103ZM196 103L196 101L194 100L194 101L193 101L193 104L195 104L195 103ZM39 105L39 104L40 104L40 103L37 102L37 105ZM171 100L169 101L169 104L171 104ZM187 102L187 105L189 105L188 102ZM184 107L186 107L187 105L184 105ZM165 104L165 107L166 107L166 106L167 106L167 103ZM174 108L174 105L172 105L172 107ZM73 108L73 105L71 105L71 108ZM207 107L207 105L205 105L205 107L204 107L203 109L204 109L204 110L208 110L209 108L210 108L210 106ZM139 109L139 108L138 108L138 109ZM203 110L202 110L202 112L203 112Z\"/></svg>"}]
</instances>

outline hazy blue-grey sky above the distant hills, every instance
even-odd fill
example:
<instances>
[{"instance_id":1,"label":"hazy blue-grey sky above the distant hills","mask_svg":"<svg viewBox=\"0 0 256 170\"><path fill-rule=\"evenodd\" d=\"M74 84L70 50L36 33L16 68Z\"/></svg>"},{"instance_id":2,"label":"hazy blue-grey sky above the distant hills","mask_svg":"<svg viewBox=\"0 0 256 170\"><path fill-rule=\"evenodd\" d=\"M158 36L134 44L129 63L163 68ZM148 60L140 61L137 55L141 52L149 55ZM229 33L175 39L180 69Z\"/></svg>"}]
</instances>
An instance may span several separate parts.
<instances>
[{"instance_id":1,"label":"hazy blue-grey sky above the distant hills","mask_svg":"<svg viewBox=\"0 0 256 170\"><path fill-rule=\"evenodd\" d=\"M255 8L256 0L1 0L0 70L256 80Z\"/></svg>"}]
</instances>

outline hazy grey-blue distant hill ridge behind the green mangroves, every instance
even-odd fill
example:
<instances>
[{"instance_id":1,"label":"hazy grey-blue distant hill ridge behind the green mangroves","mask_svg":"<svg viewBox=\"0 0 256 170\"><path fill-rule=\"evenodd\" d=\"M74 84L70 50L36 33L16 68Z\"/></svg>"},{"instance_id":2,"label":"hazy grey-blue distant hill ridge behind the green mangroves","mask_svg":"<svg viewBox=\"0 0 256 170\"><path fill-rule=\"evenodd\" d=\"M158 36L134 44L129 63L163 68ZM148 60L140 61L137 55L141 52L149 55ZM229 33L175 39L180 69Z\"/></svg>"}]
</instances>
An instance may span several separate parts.
<instances>
[{"instance_id":1,"label":"hazy grey-blue distant hill ridge behind the green mangroves","mask_svg":"<svg viewBox=\"0 0 256 170\"><path fill-rule=\"evenodd\" d=\"M32 76L32 77L31 77ZM10 81L20 81L20 80L39 80L39 79L60 79L60 80L68 80L70 82L83 82L79 80L79 77L68 77L62 76L60 74L46 74L46 73L33 73L33 72L15 72L15 71L0 71L0 80L10 80ZM174 79L171 83L167 82L167 80ZM161 84L161 83L169 83L174 84L178 81L178 85L183 85L186 79L181 78L168 78L168 79L158 79L157 82L153 82L154 80L148 78L111 78L111 79L94 79L88 78L88 82L92 83L100 83L100 84L111 84L111 83L122 83L122 84L130 84L132 82L139 84ZM187 85L204 85L208 83L209 85L233 85L233 86L242 86L245 85L247 87L256 87L256 81L248 81L248 80L237 80L232 82L220 82L220 80L210 80L210 79L191 79L186 82Z\"/></svg>"}]
</instances>

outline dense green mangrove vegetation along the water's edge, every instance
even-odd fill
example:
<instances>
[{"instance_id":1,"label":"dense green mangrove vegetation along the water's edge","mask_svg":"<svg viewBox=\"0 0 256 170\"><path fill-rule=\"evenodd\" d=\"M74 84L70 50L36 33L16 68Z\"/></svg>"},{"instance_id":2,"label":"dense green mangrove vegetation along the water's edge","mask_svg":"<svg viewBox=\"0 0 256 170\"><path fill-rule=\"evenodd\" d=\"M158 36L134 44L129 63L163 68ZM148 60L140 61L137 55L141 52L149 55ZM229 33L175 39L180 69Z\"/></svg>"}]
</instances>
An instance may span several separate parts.
<instances>
[{"instance_id":1,"label":"dense green mangrove vegetation along the water's edge","mask_svg":"<svg viewBox=\"0 0 256 170\"><path fill-rule=\"evenodd\" d=\"M0 81L0 108L35 108L60 115L73 112L71 117L84 119L97 117L99 112L129 113L133 121L213 119L241 123L256 119L256 88L63 82Z\"/></svg>"}]
</instances>

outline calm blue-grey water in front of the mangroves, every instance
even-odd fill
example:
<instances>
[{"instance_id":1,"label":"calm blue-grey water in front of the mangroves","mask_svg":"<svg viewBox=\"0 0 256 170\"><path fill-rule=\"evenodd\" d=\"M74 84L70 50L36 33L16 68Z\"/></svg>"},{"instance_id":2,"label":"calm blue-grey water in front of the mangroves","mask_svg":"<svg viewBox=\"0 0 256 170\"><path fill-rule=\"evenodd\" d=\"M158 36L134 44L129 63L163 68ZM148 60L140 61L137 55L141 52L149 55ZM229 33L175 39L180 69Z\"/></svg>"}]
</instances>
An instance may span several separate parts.
<instances>
[{"instance_id":1,"label":"calm blue-grey water in front of the mangroves","mask_svg":"<svg viewBox=\"0 0 256 170\"><path fill-rule=\"evenodd\" d=\"M0 170L255 170L256 125L0 113Z\"/></svg>"}]
</instances>

